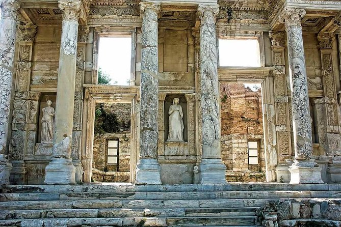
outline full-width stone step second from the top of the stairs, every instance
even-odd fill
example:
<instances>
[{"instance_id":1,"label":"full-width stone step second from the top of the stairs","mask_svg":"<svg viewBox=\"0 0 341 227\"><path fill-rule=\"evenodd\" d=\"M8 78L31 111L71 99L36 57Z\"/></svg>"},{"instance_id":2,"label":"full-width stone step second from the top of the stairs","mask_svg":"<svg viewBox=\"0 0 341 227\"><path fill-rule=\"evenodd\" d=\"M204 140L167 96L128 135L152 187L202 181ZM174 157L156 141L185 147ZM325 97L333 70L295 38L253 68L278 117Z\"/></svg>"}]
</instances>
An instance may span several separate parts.
<instances>
[{"instance_id":1,"label":"full-width stone step second from the top of the stairs","mask_svg":"<svg viewBox=\"0 0 341 227\"><path fill-rule=\"evenodd\" d=\"M35 192L0 193L0 201L224 200L232 198L339 198L340 196L340 191Z\"/></svg>"}]
</instances>

